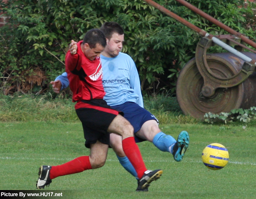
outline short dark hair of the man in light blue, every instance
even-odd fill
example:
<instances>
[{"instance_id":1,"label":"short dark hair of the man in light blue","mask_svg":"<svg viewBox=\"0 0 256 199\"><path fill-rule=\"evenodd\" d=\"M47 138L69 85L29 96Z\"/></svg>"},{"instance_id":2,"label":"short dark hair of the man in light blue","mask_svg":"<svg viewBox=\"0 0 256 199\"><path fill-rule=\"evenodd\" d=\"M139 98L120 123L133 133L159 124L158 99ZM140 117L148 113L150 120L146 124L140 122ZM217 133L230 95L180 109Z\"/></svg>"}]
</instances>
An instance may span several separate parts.
<instances>
[{"instance_id":1,"label":"short dark hair of the man in light blue","mask_svg":"<svg viewBox=\"0 0 256 199\"><path fill-rule=\"evenodd\" d=\"M124 29L117 22L105 22L100 30L105 34L107 39L111 39L113 33L117 33L119 35L124 34Z\"/></svg>"}]
</instances>

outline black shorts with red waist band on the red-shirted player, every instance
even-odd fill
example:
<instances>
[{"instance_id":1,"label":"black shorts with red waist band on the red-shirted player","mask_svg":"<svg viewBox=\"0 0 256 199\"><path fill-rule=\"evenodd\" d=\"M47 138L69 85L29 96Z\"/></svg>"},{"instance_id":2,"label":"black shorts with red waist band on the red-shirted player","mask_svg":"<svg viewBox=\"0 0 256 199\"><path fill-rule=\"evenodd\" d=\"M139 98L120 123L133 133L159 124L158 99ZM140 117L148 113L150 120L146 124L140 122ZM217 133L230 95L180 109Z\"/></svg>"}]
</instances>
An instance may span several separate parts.
<instances>
[{"instance_id":1,"label":"black shorts with red waist band on the red-shirted player","mask_svg":"<svg viewBox=\"0 0 256 199\"><path fill-rule=\"evenodd\" d=\"M113 119L122 112L111 108L103 99L80 101L75 105L75 109L83 125L86 148L90 148L97 140L109 145L107 129Z\"/></svg>"}]
</instances>

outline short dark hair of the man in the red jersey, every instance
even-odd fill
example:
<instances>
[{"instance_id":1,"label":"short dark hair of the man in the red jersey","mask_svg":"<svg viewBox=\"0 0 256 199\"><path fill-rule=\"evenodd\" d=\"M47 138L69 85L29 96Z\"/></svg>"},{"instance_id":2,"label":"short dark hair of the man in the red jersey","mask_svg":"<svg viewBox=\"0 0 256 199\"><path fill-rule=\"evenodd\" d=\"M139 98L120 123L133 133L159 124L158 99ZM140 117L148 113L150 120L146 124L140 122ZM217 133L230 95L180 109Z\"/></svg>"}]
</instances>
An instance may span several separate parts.
<instances>
[{"instance_id":1,"label":"short dark hair of the man in the red jersey","mask_svg":"<svg viewBox=\"0 0 256 199\"><path fill-rule=\"evenodd\" d=\"M84 36L83 44L85 43L88 43L90 48L95 48L97 43L105 47L106 37L100 29L91 29Z\"/></svg>"}]
</instances>

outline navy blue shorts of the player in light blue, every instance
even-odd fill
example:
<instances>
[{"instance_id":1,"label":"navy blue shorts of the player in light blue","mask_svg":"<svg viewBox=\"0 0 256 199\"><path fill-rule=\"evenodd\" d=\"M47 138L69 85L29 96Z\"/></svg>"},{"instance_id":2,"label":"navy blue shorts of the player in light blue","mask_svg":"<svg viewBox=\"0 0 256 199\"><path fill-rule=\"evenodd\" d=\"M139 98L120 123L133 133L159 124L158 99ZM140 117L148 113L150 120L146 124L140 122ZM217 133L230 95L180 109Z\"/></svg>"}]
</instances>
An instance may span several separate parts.
<instances>
[{"instance_id":1,"label":"navy blue shorts of the player in light blue","mask_svg":"<svg viewBox=\"0 0 256 199\"><path fill-rule=\"evenodd\" d=\"M146 121L155 120L158 122L153 114L134 102L125 102L121 105L111 107L124 113L125 119L134 127L134 133L138 132ZM145 141L145 139L137 137L136 134L134 134L134 138L136 142Z\"/></svg>"}]
</instances>

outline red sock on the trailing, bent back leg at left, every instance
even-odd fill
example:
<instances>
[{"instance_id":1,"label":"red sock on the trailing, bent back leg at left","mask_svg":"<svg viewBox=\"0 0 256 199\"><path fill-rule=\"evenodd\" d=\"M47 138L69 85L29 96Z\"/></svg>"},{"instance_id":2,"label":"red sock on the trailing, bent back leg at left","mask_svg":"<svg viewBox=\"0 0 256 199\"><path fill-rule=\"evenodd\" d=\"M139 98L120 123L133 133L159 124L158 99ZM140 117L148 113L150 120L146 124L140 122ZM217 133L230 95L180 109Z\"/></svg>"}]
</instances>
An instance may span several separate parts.
<instances>
[{"instance_id":1,"label":"red sock on the trailing, bent back leg at left","mask_svg":"<svg viewBox=\"0 0 256 199\"><path fill-rule=\"evenodd\" d=\"M62 165L52 166L50 170L50 179L63 175L79 173L88 169L92 169L89 156L81 156Z\"/></svg>"}]
</instances>

